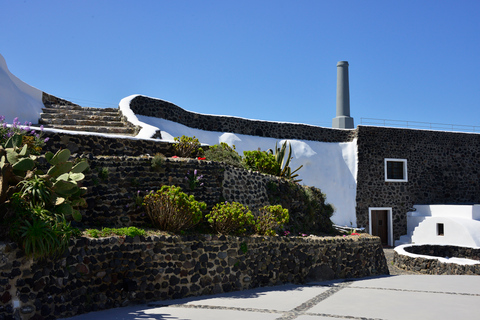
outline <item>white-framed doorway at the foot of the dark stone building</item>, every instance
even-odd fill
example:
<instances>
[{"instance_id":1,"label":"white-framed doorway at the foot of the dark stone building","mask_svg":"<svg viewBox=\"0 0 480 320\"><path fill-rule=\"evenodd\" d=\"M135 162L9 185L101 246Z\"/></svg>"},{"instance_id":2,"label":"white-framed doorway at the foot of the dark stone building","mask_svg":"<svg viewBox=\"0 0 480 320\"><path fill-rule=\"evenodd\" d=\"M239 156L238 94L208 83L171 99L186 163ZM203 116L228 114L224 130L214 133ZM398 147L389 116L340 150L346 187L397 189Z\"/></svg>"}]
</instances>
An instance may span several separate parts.
<instances>
[{"instance_id":1,"label":"white-framed doorway at the foot of the dark stone building","mask_svg":"<svg viewBox=\"0 0 480 320\"><path fill-rule=\"evenodd\" d=\"M380 237L382 245L393 245L392 208L369 208L370 234Z\"/></svg>"}]
</instances>

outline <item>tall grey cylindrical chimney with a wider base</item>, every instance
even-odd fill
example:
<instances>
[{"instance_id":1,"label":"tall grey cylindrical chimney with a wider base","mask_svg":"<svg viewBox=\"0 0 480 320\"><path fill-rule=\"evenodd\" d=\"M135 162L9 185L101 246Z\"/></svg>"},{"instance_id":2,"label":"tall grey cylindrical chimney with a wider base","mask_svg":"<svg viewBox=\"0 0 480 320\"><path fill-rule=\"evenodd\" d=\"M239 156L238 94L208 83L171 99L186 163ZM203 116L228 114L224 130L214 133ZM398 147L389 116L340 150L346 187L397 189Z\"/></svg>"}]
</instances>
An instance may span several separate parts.
<instances>
[{"instance_id":1,"label":"tall grey cylindrical chimney with a wider base","mask_svg":"<svg viewBox=\"0 0 480 320\"><path fill-rule=\"evenodd\" d=\"M337 116L333 118L332 128L353 129L350 117L350 90L348 86L348 61L337 63Z\"/></svg>"}]
</instances>

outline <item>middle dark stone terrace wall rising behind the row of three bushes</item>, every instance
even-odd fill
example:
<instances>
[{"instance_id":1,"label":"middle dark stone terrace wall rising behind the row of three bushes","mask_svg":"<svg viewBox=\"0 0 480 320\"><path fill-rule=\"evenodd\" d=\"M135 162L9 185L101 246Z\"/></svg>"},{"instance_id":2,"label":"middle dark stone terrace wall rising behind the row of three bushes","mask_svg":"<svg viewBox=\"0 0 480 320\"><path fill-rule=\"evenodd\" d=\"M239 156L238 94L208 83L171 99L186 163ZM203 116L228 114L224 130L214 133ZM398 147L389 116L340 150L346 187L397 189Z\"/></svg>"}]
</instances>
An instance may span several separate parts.
<instances>
[{"instance_id":1,"label":"middle dark stone terrace wall rising behind the row of three bushes","mask_svg":"<svg viewBox=\"0 0 480 320\"><path fill-rule=\"evenodd\" d=\"M223 163L167 158L161 171L151 166L151 157L90 157L90 172L83 186L88 192L84 196L88 207L83 210L86 225L128 226L142 225L147 217L143 210L135 207L135 196L145 196L150 190L162 185L176 185L207 203L211 209L222 201L237 201L250 210L269 204L267 183L277 177L230 167ZM197 170L203 175L199 186L190 190L187 173ZM108 172L102 179L102 171ZM300 187L300 186L298 186Z\"/></svg>"}]
</instances>

